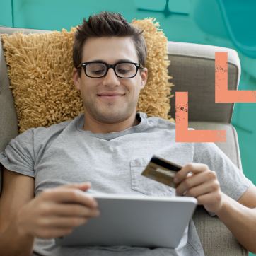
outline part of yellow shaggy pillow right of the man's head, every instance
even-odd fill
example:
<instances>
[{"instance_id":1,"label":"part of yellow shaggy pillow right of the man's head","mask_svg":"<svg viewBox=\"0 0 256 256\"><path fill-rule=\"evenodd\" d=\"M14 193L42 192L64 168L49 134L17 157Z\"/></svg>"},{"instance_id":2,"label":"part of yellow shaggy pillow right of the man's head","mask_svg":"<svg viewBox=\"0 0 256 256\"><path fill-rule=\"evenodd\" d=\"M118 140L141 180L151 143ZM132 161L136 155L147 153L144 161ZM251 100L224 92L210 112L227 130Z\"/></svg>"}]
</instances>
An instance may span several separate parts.
<instances>
[{"instance_id":1,"label":"part of yellow shaggy pillow right of the man's head","mask_svg":"<svg viewBox=\"0 0 256 256\"><path fill-rule=\"evenodd\" d=\"M148 56L146 58L146 68L149 71L146 86L141 90L136 111L145 112L149 117L161 117L170 122L175 122L168 116L170 111L170 87L173 83L168 80L168 60L167 42L165 34L159 29L156 18L145 18L144 20L132 21L132 24L144 30L143 36L146 40Z\"/></svg>"}]
</instances>

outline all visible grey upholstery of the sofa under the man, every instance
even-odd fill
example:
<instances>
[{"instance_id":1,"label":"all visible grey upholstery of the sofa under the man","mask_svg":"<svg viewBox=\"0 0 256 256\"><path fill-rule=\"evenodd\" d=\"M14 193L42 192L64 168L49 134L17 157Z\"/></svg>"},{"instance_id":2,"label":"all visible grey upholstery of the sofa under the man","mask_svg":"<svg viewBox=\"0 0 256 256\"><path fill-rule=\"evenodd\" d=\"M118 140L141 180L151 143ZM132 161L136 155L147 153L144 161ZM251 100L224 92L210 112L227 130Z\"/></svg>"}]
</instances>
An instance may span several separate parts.
<instances>
[{"instance_id":1,"label":"all visible grey upholstery of the sofa under the man","mask_svg":"<svg viewBox=\"0 0 256 256\"><path fill-rule=\"evenodd\" d=\"M12 35L18 28L0 27L0 34ZM28 33L45 33L45 30L24 30ZM226 143L216 143L242 171L238 136L231 125L234 103L215 103L215 52L228 52L228 89L237 89L240 78L238 54L231 49L184 42L168 42L171 61L169 74L172 94L188 91L189 127L194 129L226 129ZM0 151L8 141L18 135L17 116L9 88L6 62L0 47ZM175 97L170 99L170 115L175 118ZM1 174L1 173L0 173ZM0 175L1 179L1 175ZM1 180L0 180L1 181ZM1 184L1 182L0 182ZM1 192L1 187L0 187ZM248 255L235 240L231 231L217 216L210 217L203 206L198 206L193 216L205 255Z\"/></svg>"}]
</instances>

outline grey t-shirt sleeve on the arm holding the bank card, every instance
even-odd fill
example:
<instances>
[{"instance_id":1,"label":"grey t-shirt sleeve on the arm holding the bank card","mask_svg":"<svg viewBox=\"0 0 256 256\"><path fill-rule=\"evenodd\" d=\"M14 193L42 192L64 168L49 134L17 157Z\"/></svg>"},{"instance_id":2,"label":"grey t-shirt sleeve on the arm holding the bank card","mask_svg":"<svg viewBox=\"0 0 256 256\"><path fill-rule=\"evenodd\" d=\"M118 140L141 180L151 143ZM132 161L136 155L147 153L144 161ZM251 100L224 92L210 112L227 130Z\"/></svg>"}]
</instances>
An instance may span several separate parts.
<instances>
[{"instance_id":1,"label":"grey t-shirt sleeve on the arm holding the bank card","mask_svg":"<svg viewBox=\"0 0 256 256\"><path fill-rule=\"evenodd\" d=\"M221 191L237 201L248 190L251 181L238 169L216 144L194 143L194 163L204 163L216 172ZM209 212L211 216L216 214Z\"/></svg>"}]
</instances>

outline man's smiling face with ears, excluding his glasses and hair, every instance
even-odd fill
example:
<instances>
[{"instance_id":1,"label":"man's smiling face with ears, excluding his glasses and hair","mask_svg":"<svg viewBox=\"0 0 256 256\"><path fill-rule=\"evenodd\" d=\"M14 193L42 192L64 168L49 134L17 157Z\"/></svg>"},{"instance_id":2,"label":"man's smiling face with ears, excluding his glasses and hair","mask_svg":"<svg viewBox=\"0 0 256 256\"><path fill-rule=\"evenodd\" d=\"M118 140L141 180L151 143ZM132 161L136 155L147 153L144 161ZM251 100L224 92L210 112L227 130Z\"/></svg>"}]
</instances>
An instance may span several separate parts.
<instances>
[{"instance_id":1,"label":"man's smiling face with ears, excluding his glasses and hair","mask_svg":"<svg viewBox=\"0 0 256 256\"><path fill-rule=\"evenodd\" d=\"M82 62L116 64L121 60L139 63L130 37L93 37L86 40ZM81 91L85 116L96 122L115 124L136 113L139 92L146 84L147 69L143 69L141 73L138 70L133 78L119 78L110 68L106 76L90 78L82 68L81 78L76 69L73 78L76 88ZM121 95L107 97L104 94Z\"/></svg>"}]
</instances>

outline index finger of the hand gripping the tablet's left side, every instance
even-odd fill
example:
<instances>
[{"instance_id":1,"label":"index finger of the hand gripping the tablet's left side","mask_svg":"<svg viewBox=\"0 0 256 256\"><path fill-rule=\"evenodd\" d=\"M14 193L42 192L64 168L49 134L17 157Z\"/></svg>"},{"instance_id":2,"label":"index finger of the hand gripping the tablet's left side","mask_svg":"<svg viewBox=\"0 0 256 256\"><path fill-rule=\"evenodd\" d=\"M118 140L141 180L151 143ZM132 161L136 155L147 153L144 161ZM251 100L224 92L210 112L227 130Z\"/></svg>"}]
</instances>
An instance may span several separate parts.
<instances>
[{"instance_id":1,"label":"index finger of the hand gripping the tablet's left side","mask_svg":"<svg viewBox=\"0 0 256 256\"><path fill-rule=\"evenodd\" d=\"M74 203L88 206L92 209L98 207L97 201L90 195L72 187L57 187L42 192L46 201L56 203Z\"/></svg>"}]
</instances>

